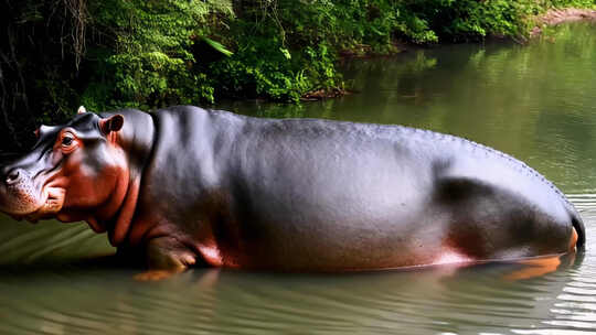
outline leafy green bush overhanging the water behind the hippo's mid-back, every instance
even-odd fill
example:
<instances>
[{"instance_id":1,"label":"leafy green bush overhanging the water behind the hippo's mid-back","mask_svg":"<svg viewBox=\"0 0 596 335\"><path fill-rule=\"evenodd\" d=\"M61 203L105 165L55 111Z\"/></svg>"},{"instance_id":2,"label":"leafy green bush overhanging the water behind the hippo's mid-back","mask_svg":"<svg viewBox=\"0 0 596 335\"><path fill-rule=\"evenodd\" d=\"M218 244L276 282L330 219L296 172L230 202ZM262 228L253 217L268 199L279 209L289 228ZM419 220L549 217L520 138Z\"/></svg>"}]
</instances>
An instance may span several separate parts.
<instances>
[{"instance_id":1,"label":"leafy green bush overhanging the water behind the hippo's mid-back","mask_svg":"<svg viewBox=\"0 0 596 335\"><path fill-rule=\"evenodd\" d=\"M312 17L291 18L292 12L299 12L292 3L288 1L288 7L279 9L247 7L243 9L242 20L231 22L233 40L228 43L236 52L211 64L206 72L217 78L216 97L298 101L306 91L340 84L329 41L304 31L305 26L312 26L305 24ZM308 10L316 12L312 8Z\"/></svg>"}]
</instances>

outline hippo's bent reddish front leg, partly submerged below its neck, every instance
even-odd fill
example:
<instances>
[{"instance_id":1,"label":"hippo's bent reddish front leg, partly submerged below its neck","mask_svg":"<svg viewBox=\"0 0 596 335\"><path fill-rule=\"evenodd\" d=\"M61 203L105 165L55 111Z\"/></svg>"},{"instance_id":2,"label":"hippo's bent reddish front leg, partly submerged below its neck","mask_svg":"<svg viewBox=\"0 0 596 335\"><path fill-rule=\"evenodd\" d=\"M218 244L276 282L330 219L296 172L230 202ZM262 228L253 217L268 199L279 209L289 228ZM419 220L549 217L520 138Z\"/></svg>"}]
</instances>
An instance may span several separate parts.
<instances>
[{"instance_id":1,"label":"hippo's bent reddish front leg, partly submerged below its neck","mask_svg":"<svg viewBox=\"0 0 596 335\"><path fill-rule=\"evenodd\" d=\"M187 270L196 262L196 253L173 237L157 237L147 242L149 270L135 275L137 280L161 280Z\"/></svg>"}]
</instances>

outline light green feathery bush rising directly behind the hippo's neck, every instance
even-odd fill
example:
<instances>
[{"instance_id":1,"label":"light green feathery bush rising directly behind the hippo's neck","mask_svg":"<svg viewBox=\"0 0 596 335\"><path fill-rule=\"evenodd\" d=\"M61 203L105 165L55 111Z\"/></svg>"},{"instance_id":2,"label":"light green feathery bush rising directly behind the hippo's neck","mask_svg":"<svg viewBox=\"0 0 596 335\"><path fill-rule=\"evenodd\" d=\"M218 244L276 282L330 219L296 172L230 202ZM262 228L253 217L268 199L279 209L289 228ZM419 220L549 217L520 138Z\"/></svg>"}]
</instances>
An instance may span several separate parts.
<instances>
[{"instance_id":1,"label":"light green feathery bush rising directly behind the hippo's neck","mask_svg":"<svg viewBox=\"0 0 596 335\"><path fill-rule=\"evenodd\" d=\"M108 74L103 86L114 89L89 85L83 100L99 109L212 101L211 83L194 71L191 51L207 33L202 26L212 11L231 14L221 3L201 0L109 0L91 8L97 29L110 34L111 53L99 67Z\"/></svg>"}]
</instances>

